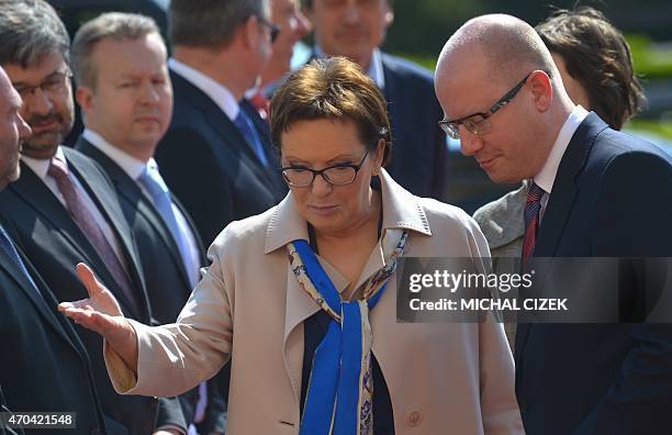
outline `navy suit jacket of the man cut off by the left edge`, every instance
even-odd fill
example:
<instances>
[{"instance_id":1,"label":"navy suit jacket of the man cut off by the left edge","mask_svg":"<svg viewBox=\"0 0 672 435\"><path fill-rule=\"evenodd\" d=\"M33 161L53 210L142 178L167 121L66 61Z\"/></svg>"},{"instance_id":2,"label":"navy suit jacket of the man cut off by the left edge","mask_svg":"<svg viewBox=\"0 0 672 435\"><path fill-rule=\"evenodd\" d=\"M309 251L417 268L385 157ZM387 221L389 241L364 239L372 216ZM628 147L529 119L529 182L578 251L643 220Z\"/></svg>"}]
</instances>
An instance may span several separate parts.
<instances>
[{"instance_id":1,"label":"navy suit jacket of the man cut off by the left edge","mask_svg":"<svg viewBox=\"0 0 672 435\"><path fill-rule=\"evenodd\" d=\"M52 292L24 263L37 289L0 253L0 395L14 412L76 412L77 428L69 433L104 433L87 352L57 312Z\"/></svg>"}]
</instances>

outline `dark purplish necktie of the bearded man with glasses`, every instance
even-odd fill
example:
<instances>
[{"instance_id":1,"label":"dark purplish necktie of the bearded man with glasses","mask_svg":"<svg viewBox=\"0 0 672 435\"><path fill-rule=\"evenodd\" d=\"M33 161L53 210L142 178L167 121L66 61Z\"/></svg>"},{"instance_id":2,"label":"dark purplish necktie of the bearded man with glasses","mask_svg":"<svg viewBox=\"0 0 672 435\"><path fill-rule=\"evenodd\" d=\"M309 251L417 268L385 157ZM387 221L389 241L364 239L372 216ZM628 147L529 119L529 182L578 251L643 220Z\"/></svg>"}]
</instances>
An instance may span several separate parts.
<instances>
[{"instance_id":1,"label":"dark purplish necktie of the bearded man with glasses","mask_svg":"<svg viewBox=\"0 0 672 435\"><path fill-rule=\"evenodd\" d=\"M112 275L112 278L114 278L126 299L133 305L132 309L136 313L141 313L141 304L137 300L135 291L133 291L131 278L124 270L120 259L116 257L116 254L114 254L114 250L112 249L112 246L110 246L110 243L105 238L102 230L96 223L93 214L85 205L81 194L70 179L68 167L66 166L65 161L54 157L47 174L54 177L56 180L58 190L65 198L66 207L75 220L75 223L77 226L79 226L98 255L102 258L103 263L108 267L108 270Z\"/></svg>"}]
</instances>

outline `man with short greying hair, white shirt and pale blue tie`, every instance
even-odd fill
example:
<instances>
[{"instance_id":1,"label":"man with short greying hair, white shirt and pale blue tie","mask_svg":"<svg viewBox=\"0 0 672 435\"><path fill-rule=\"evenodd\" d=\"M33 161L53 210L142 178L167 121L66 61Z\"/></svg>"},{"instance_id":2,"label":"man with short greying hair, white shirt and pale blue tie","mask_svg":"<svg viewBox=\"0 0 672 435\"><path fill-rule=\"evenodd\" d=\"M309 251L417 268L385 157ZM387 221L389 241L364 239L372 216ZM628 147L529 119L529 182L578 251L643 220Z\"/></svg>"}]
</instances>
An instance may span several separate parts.
<instances>
[{"instance_id":1,"label":"man with short greying hair, white shirt and pale blue tie","mask_svg":"<svg viewBox=\"0 0 672 435\"><path fill-rule=\"evenodd\" d=\"M79 27L71 54L85 124L76 148L112 180L136 242L152 314L172 323L199 281L204 253L153 158L172 113L166 45L150 18L108 12ZM197 397L198 389L180 395L184 419L171 409L165 426L188 427Z\"/></svg>"}]
</instances>

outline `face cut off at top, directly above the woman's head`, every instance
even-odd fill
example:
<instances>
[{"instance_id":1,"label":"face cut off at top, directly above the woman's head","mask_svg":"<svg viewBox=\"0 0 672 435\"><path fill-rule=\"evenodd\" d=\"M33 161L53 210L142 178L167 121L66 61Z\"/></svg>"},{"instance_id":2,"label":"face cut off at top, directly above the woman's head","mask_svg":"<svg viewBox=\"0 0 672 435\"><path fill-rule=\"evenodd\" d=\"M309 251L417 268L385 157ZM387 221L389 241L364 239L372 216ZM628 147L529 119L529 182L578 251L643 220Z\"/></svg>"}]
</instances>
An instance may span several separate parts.
<instances>
[{"instance_id":1,"label":"face cut off at top, directly above the woman's head","mask_svg":"<svg viewBox=\"0 0 672 435\"><path fill-rule=\"evenodd\" d=\"M388 0L313 0L306 12L325 54L346 56L365 69L394 18Z\"/></svg>"}]
</instances>

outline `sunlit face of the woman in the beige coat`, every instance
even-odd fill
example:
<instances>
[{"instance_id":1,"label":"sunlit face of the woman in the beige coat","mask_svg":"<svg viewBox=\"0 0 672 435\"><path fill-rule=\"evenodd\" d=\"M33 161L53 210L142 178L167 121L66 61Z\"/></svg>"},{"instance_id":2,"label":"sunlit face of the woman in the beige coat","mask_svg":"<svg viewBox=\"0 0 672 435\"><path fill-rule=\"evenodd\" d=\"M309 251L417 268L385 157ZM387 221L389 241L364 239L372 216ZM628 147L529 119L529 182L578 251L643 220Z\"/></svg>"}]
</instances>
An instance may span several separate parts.
<instances>
[{"instance_id":1,"label":"sunlit face of the woman in the beige coat","mask_svg":"<svg viewBox=\"0 0 672 435\"><path fill-rule=\"evenodd\" d=\"M359 164L367 146L351 121L301 121L282 133L282 166L323 169ZM382 163L382 141L370 150L355 181L333 186L321 176L304 188L290 187L301 215L322 233L337 234L366 221L372 212L371 176Z\"/></svg>"}]
</instances>

